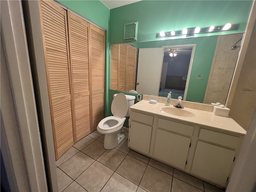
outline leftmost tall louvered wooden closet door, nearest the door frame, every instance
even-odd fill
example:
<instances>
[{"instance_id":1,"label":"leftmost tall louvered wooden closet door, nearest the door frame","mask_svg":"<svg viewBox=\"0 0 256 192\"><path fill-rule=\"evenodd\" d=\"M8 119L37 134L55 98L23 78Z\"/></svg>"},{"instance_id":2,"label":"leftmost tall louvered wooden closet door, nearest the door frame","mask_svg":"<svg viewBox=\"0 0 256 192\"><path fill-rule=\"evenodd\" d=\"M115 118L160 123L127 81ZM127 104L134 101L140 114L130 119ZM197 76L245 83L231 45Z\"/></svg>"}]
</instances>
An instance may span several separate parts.
<instances>
[{"instance_id":1,"label":"leftmost tall louvered wooden closet door, nearest the door frame","mask_svg":"<svg viewBox=\"0 0 256 192\"><path fill-rule=\"evenodd\" d=\"M49 0L39 7L57 160L74 144L66 10Z\"/></svg>"}]
</instances>

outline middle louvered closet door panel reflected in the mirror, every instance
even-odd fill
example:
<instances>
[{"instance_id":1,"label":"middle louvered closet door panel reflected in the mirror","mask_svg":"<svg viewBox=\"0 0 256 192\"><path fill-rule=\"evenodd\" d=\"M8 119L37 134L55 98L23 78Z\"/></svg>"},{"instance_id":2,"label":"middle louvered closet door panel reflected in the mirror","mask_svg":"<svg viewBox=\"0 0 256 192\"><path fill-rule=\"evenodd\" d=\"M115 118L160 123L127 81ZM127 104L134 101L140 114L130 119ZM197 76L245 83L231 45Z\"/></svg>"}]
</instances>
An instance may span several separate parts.
<instances>
[{"instance_id":1,"label":"middle louvered closet door panel reflected in the mirror","mask_svg":"<svg viewBox=\"0 0 256 192\"><path fill-rule=\"evenodd\" d=\"M118 90L125 90L126 76L126 48L127 44L119 45L119 62L118 62Z\"/></svg>"}]
</instances>

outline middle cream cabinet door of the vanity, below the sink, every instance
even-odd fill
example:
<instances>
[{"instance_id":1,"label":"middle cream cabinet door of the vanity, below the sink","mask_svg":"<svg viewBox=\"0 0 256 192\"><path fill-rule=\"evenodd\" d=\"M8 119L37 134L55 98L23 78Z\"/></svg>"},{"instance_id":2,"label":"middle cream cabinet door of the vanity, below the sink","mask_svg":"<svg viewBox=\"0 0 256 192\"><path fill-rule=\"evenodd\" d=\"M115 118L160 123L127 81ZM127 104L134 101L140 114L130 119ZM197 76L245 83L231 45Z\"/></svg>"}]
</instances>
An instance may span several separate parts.
<instances>
[{"instance_id":1,"label":"middle cream cabinet door of the vanity, below the sink","mask_svg":"<svg viewBox=\"0 0 256 192\"><path fill-rule=\"evenodd\" d=\"M189 145L190 138L157 129L154 157L184 169Z\"/></svg>"}]
</instances>

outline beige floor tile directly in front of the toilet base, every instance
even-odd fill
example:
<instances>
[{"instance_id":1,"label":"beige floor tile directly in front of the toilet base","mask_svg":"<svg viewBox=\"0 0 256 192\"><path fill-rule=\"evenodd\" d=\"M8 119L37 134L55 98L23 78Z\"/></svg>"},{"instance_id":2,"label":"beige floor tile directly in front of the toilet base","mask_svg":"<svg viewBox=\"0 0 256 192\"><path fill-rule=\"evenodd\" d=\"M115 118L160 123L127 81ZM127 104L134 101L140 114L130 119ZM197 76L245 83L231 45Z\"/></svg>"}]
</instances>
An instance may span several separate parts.
<instances>
[{"instance_id":1,"label":"beige floor tile directly in front of the toilet base","mask_svg":"<svg viewBox=\"0 0 256 192\"><path fill-rule=\"evenodd\" d=\"M98 159L98 162L106 165L112 170L116 170L124 160L126 154L116 149L106 150Z\"/></svg>"}]
</instances>

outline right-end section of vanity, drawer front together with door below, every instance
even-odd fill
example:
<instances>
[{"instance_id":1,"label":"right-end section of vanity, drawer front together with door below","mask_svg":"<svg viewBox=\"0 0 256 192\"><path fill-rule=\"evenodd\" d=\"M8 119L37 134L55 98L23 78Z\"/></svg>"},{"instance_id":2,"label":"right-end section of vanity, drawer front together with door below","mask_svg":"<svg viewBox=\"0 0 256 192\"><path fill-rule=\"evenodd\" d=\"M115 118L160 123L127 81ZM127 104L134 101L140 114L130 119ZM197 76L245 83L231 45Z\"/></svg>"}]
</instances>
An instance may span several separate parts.
<instances>
[{"instance_id":1,"label":"right-end section of vanity, drawer front together with door below","mask_svg":"<svg viewBox=\"0 0 256 192\"><path fill-rule=\"evenodd\" d=\"M198 138L191 172L225 186L240 138L203 128Z\"/></svg>"}]
</instances>

